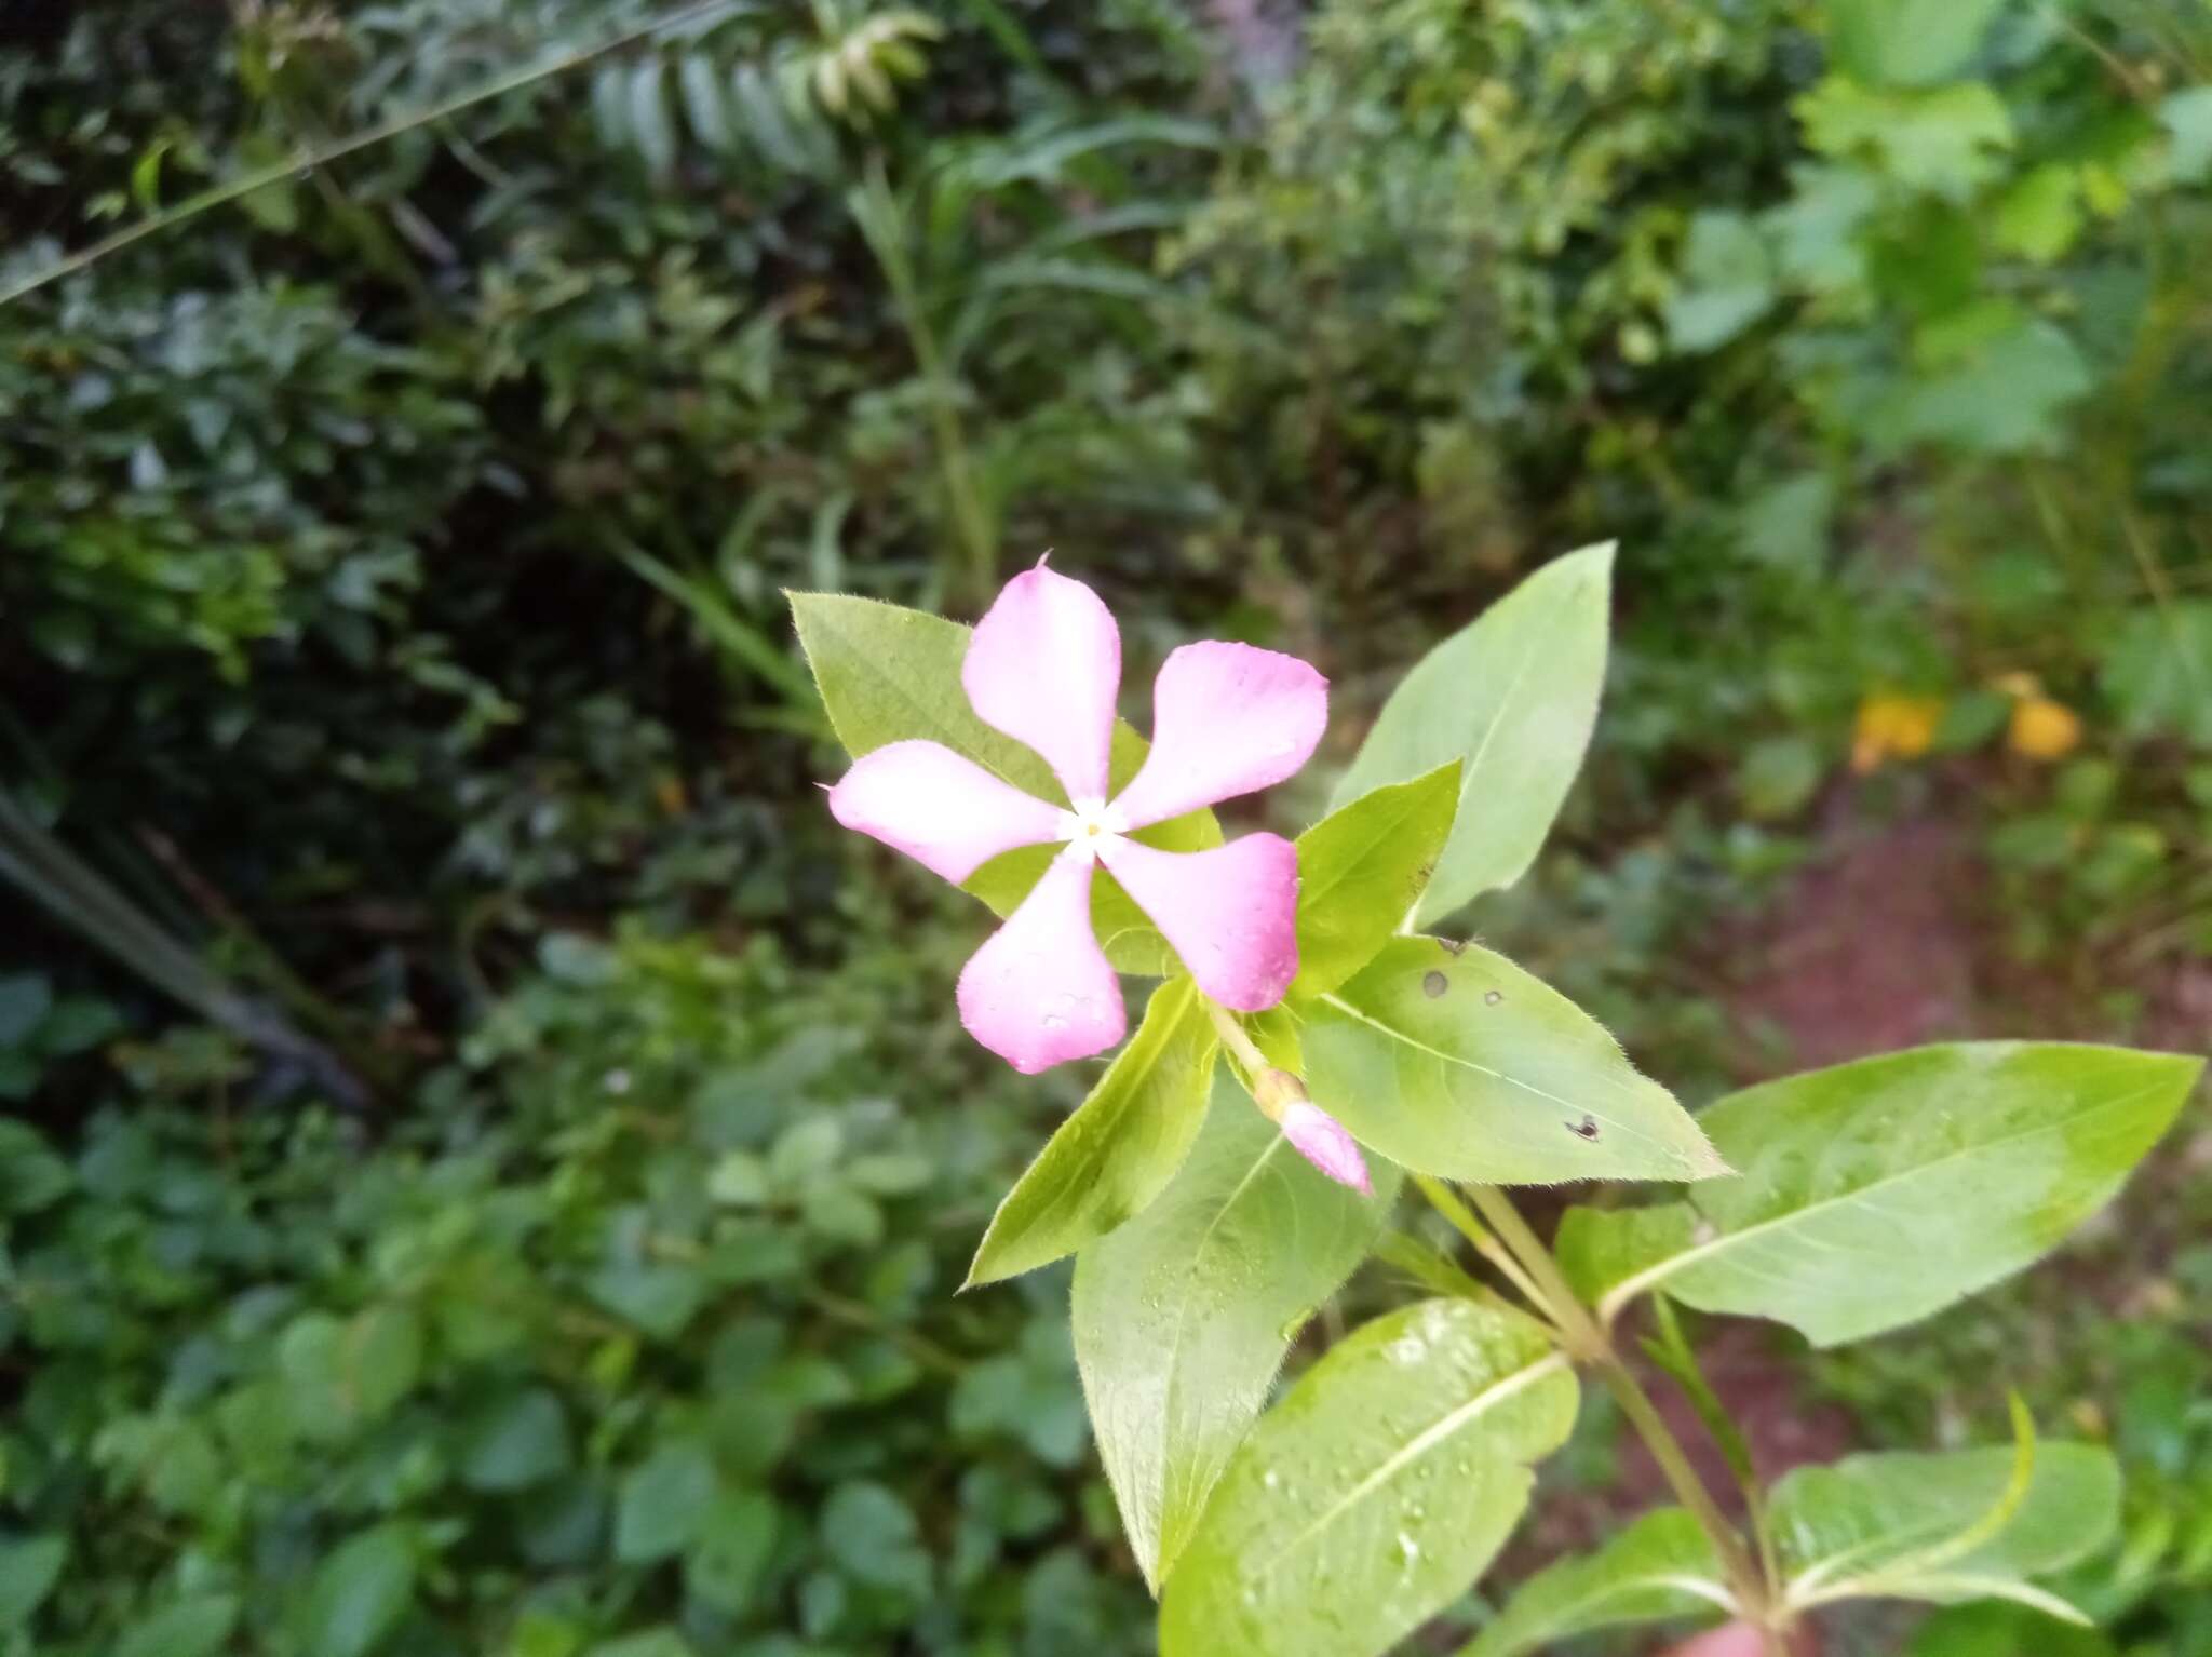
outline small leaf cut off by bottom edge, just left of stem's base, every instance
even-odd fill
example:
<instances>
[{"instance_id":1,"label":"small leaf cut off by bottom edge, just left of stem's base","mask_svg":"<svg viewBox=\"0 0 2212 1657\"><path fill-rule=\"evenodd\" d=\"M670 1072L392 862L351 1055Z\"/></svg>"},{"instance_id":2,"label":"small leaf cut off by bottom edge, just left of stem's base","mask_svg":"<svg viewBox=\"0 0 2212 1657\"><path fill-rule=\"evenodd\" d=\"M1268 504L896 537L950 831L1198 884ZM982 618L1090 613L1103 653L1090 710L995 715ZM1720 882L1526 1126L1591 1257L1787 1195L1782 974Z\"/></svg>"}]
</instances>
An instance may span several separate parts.
<instances>
[{"instance_id":1,"label":"small leaf cut off by bottom edge, just left of stem's base","mask_svg":"<svg viewBox=\"0 0 2212 1657\"><path fill-rule=\"evenodd\" d=\"M1712 1540L1679 1507L1646 1513L1597 1553L1559 1560L1520 1586L1460 1657L1520 1657L1597 1628L1734 1611Z\"/></svg>"}]
</instances>

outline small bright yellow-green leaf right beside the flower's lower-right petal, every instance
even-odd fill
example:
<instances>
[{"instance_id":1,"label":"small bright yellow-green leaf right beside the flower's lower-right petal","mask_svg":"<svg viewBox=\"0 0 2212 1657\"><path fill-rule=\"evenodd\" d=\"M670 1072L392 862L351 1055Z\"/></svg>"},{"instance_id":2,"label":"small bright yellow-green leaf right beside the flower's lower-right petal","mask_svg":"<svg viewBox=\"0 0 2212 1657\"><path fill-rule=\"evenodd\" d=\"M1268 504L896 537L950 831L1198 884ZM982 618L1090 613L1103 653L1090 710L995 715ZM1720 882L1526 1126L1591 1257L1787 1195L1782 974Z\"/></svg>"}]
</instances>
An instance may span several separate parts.
<instances>
[{"instance_id":1,"label":"small bright yellow-green leaf right beside the flower's lower-right petal","mask_svg":"<svg viewBox=\"0 0 2212 1657\"><path fill-rule=\"evenodd\" d=\"M1298 836L1298 978L1321 996L1376 958L1420 903L1460 807L1460 761L1385 783Z\"/></svg>"}]
</instances>

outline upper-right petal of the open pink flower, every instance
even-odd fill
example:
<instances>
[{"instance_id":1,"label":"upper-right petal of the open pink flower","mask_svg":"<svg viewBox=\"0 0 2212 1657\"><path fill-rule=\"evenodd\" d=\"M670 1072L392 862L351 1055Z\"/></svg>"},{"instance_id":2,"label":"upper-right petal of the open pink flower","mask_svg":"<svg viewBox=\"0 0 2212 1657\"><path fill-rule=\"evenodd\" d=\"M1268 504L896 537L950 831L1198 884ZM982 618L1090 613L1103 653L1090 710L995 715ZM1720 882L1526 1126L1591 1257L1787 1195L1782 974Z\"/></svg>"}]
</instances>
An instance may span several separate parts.
<instances>
[{"instance_id":1,"label":"upper-right petal of the open pink flower","mask_svg":"<svg viewBox=\"0 0 2212 1657\"><path fill-rule=\"evenodd\" d=\"M1152 681L1152 752L1115 810L1128 827L1272 788L1329 723L1329 681L1250 644L1186 644Z\"/></svg>"}]
</instances>

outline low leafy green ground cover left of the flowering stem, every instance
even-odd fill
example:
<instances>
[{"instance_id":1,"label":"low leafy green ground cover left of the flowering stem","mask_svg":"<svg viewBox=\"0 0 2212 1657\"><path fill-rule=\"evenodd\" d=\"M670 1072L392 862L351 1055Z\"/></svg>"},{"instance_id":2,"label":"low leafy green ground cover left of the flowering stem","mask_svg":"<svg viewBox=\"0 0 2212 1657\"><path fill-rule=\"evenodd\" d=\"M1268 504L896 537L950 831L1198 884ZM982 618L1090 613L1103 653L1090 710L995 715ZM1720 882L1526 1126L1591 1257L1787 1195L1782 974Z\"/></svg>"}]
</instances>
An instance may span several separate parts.
<instances>
[{"instance_id":1,"label":"low leafy green ground cover left of the flowering stem","mask_svg":"<svg viewBox=\"0 0 2212 1657\"><path fill-rule=\"evenodd\" d=\"M0 1648L1139 1648L1066 1296L953 1299L1040 1113L911 951L549 934L374 1133L117 1057L0 1137Z\"/></svg>"}]
</instances>

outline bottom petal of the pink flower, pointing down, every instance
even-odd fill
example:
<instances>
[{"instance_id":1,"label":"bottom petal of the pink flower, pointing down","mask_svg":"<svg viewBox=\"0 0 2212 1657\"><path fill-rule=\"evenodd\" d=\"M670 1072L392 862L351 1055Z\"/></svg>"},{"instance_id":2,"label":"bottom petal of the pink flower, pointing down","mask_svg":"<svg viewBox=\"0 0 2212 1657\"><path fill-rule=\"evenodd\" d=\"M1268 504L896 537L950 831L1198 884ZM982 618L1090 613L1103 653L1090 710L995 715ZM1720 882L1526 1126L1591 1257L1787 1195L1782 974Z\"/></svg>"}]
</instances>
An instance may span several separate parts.
<instances>
[{"instance_id":1,"label":"bottom petal of the pink flower, pointing down","mask_svg":"<svg viewBox=\"0 0 2212 1657\"><path fill-rule=\"evenodd\" d=\"M1104 1053L1128 1029L1091 936L1091 858L1068 850L960 969L960 1022L1022 1075Z\"/></svg>"}]
</instances>

